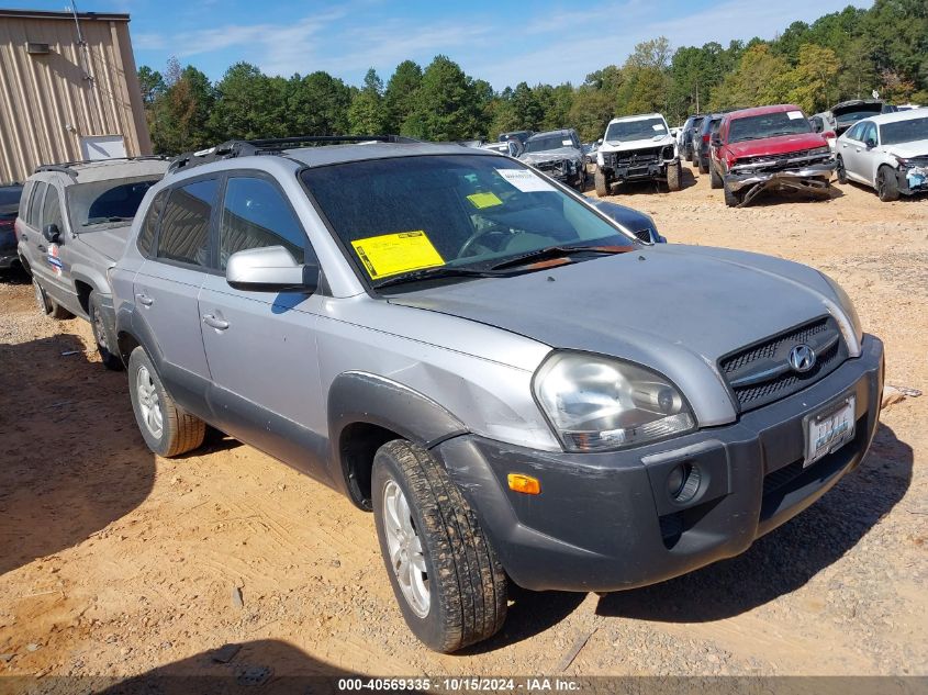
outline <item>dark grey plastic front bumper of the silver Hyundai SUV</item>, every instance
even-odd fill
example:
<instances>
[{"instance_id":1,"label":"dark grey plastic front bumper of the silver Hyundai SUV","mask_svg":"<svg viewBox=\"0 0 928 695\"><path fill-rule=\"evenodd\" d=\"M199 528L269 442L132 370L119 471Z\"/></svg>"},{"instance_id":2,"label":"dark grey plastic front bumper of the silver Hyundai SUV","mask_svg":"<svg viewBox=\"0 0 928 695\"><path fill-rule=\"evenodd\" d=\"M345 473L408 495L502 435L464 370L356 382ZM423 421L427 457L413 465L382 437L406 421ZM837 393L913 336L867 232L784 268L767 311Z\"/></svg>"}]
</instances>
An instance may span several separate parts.
<instances>
[{"instance_id":1,"label":"dark grey plastic front bumper of the silver Hyundai SUV","mask_svg":"<svg viewBox=\"0 0 928 695\"><path fill-rule=\"evenodd\" d=\"M435 452L516 584L618 591L739 554L809 506L863 459L882 389L883 344L865 336L859 358L731 425L619 452L536 451L470 435ZM804 469L805 419L849 394L854 439ZM702 482L680 505L667 477L684 462ZM541 494L510 491L507 473L538 478Z\"/></svg>"}]
</instances>

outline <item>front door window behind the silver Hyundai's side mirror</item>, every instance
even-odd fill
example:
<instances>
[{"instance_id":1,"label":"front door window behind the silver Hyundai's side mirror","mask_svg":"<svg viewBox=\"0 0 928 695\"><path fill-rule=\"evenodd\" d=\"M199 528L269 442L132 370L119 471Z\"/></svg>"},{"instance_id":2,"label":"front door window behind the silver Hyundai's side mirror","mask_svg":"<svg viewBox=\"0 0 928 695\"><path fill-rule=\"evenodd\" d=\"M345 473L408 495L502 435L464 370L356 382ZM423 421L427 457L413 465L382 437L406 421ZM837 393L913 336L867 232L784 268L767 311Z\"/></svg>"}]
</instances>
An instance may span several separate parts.
<instances>
[{"instance_id":1,"label":"front door window behind the silver Hyundai's side mirror","mask_svg":"<svg viewBox=\"0 0 928 695\"><path fill-rule=\"evenodd\" d=\"M233 177L225 189L220 223L220 267L236 251L283 246L304 261L306 235L287 199L270 181Z\"/></svg>"}]
</instances>

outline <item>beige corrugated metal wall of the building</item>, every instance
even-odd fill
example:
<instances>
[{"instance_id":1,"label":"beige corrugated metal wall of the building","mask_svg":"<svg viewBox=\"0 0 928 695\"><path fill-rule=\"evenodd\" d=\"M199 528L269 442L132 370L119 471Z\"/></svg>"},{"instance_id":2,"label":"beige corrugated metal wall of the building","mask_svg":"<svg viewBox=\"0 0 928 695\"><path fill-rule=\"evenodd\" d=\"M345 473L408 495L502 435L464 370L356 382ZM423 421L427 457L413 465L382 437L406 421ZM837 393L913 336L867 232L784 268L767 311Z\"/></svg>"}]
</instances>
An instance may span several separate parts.
<instances>
[{"instance_id":1,"label":"beige corrugated metal wall of the building","mask_svg":"<svg viewBox=\"0 0 928 695\"><path fill-rule=\"evenodd\" d=\"M82 48L74 18L11 14L0 11L0 183L81 159L81 136L122 135L127 155L152 154L127 21L82 18ZM30 42L51 52L29 54Z\"/></svg>"}]
</instances>

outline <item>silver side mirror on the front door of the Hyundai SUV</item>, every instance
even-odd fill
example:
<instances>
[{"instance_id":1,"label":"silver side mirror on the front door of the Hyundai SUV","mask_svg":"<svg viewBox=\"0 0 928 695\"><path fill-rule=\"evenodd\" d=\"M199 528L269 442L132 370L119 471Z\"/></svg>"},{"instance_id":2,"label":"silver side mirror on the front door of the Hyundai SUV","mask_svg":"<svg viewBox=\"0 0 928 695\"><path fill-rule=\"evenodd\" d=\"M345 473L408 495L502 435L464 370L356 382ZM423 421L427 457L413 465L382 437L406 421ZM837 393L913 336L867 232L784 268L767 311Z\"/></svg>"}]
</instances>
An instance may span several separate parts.
<instances>
[{"instance_id":1,"label":"silver side mirror on the front door of the Hyundai SUV","mask_svg":"<svg viewBox=\"0 0 928 695\"><path fill-rule=\"evenodd\" d=\"M282 246L249 248L228 257L225 280L247 292L304 292L318 287L320 270L303 266Z\"/></svg>"}]
</instances>

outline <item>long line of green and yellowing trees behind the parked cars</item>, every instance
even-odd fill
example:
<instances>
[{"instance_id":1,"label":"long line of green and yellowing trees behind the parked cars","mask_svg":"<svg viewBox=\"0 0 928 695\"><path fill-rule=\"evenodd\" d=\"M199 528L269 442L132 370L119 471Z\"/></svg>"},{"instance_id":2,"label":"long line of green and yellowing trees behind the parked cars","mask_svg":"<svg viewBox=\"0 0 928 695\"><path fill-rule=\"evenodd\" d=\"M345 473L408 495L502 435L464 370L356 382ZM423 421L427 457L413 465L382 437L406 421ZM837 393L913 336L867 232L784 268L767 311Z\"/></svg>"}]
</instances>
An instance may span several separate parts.
<instances>
[{"instance_id":1,"label":"long line of green and yellowing trees behind the parked cars","mask_svg":"<svg viewBox=\"0 0 928 695\"><path fill-rule=\"evenodd\" d=\"M360 87L324 71L271 77L247 63L213 83L176 58L164 74L142 66L138 78L155 152L164 154L232 138L346 133L456 141L575 127L591 141L616 115L652 111L671 124L696 112L782 102L810 114L874 89L893 102L928 103L928 3L876 0L794 22L772 41L725 47L673 51L655 38L579 86L519 82L497 92L444 55L424 68L404 60L385 83L370 69Z\"/></svg>"}]
</instances>

